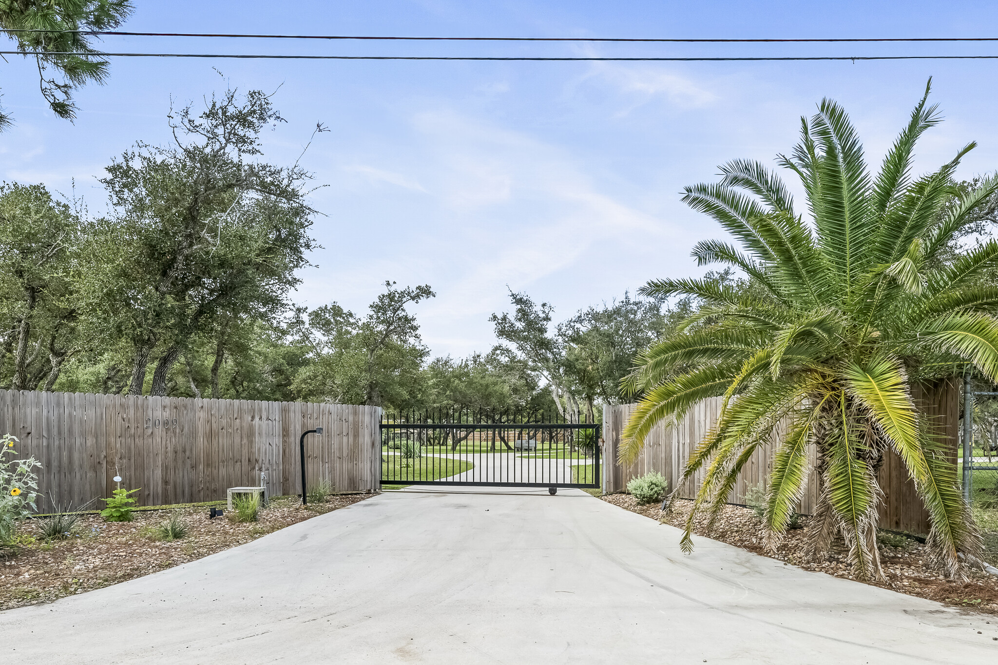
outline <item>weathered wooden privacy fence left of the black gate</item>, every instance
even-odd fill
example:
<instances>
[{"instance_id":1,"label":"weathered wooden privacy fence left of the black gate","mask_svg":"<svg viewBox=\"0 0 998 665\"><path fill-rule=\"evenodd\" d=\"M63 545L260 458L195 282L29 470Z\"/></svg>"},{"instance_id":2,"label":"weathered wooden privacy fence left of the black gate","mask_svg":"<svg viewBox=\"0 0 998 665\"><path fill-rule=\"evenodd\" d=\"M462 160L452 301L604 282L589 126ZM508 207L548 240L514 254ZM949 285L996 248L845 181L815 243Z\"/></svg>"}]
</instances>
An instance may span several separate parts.
<instances>
[{"instance_id":1,"label":"weathered wooden privacy fence left of the black gate","mask_svg":"<svg viewBox=\"0 0 998 665\"><path fill-rule=\"evenodd\" d=\"M269 496L300 494L298 437L315 427L307 482L376 492L380 420L377 407L0 390L0 435L42 464L43 512L110 497L116 475L140 505L225 499L261 472Z\"/></svg>"}]
</instances>

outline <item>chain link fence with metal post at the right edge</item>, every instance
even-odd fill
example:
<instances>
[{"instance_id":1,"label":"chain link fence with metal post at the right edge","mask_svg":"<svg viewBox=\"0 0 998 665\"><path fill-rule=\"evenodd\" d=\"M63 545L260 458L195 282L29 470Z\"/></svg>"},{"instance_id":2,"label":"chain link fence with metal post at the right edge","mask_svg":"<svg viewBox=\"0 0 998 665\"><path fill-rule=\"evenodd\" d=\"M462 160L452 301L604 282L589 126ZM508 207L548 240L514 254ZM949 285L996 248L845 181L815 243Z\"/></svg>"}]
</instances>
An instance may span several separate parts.
<instances>
[{"instance_id":1,"label":"chain link fence with metal post at the right edge","mask_svg":"<svg viewBox=\"0 0 998 665\"><path fill-rule=\"evenodd\" d=\"M957 471L984 536L984 557L998 565L998 390L969 380L964 387Z\"/></svg>"}]
</instances>

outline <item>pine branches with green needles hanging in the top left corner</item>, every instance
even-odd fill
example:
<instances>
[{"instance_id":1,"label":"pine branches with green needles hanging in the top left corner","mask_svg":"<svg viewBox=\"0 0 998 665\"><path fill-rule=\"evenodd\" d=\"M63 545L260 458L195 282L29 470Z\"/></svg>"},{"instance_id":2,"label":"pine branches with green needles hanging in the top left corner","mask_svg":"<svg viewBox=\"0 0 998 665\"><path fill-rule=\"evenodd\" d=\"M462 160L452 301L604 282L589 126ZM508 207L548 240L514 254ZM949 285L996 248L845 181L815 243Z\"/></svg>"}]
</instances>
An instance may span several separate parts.
<instances>
[{"instance_id":1,"label":"pine branches with green needles hanging in the top left corner","mask_svg":"<svg viewBox=\"0 0 998 665\"><path fill-rule=\"evenodd\" d=\"M131 0L0 0L0 30L8 31L17 49L35 59L49 108L60 118L73 120L77 112L73 91L108 78L108 62L91 46L93 37L85 31L113 30L132 11ZM0 108L0 132L11 122Z\"/></svg>"}]
</instances>

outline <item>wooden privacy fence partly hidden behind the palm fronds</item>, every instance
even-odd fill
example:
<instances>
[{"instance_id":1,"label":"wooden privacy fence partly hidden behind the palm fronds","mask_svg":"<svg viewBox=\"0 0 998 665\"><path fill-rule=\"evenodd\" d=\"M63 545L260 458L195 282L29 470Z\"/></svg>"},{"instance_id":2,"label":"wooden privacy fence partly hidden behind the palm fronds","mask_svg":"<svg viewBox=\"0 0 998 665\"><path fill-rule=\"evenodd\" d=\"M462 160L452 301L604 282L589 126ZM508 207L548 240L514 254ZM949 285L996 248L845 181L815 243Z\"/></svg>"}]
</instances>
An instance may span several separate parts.
<instances>
[{"instance_id":1,"label":"wooden privacy fence partly hidden behind the palm fronds","mask_svg":"<svg viewBox=\"0 0 998 665\"><path fill-rule=\"evenodd\" d=\"M956 382L946 380L931 386L913 385L912 394L915 404L929 417L936 435L942 439L946 450L952 451L952 459L955 461L960 402ZM627 466L618 464L620 460L618 446L621 443L621 432L635 405L605 406L603 408L604 491L619 492L625 489L632 478L657 471L669 481L669 491L672 492L683 476L683 465L689 459L690 453L718 422L721 403L720 397L709 398L692 407L678 424L668 428L662 425L656 427L646 439L641 455L634 464ZM781 430L781 427L777 427L774 437L776 441L779 440ZM772 471L774 448L774 444L762 446L752 455L728 499L730 502L744 503L743 497L749 488L759 483L763 487L767 485L769 472ZM798 508L798 512L803 514L812 512L819 491L817 475L813 471L815 460L813 446L808 451L808 457L812 471L804 481L804 494ZM701 471L688 480L681 488L679 497L693 499L703 477L704 472ZM884 493L880 506L881 528L928 533L928 512L918 498L914 483L908 478L903 463L893 452L887 454L877 481Z\"/></svg>"}]
</instances>

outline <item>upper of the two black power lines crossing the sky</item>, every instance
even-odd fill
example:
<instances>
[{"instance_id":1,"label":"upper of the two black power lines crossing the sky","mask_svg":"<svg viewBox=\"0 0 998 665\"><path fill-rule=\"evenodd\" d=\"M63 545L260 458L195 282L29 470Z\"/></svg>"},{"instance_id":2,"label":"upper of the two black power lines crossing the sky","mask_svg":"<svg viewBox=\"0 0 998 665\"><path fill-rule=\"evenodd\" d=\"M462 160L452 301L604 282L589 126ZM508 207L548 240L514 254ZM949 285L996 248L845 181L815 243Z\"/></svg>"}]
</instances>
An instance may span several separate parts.
<instances>
[{"instance_id":1,"label":"upper of the two black power lines crossing the sky","mask_svg":"<svg viewBox=\"0 0 998 665\"><path fill-rule=\"evenodd\" d=\"M847 37L793 39L658 38L658 37L398 37L369 35L250 35L203 32L124 32L116 30L38 30L4 28L3 32L76 33L117 37L225 37L235 39L331 39L411 42L652 42L685 44L835 43L835 42L998 42L998 37Z\"/></svg>"}]
</instances>

